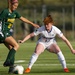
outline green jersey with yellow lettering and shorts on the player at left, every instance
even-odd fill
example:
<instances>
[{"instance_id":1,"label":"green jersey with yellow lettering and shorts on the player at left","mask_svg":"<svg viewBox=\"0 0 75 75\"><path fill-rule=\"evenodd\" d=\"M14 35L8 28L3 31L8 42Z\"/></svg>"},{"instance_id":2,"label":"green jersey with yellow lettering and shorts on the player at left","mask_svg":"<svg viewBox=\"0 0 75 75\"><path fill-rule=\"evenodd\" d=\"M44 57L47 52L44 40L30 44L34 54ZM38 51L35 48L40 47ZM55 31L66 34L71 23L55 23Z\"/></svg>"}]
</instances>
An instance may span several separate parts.
<instances>
[{"instance_id":1,"label":"green jersey with yellow lettering and shorts on the player at left","mask_svg":"<svg viewBox=\"0 0 75 75\"><path fill-rule=\"evenodd\" d=\"M0 13L0 40L5 40L6 37L10 36L9 30L15 19L20 17L21 15L16 10L10 13L7 8Z\"/></svg>"}]
</instances>

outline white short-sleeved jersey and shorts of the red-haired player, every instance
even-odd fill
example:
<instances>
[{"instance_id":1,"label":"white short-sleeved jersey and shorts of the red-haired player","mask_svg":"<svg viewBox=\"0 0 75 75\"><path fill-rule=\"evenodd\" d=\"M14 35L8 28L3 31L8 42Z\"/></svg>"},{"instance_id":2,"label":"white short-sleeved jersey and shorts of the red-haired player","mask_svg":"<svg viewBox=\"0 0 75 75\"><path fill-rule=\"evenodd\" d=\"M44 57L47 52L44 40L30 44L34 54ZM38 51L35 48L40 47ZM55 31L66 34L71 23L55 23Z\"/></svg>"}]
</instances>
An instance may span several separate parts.
<instances>
[{"instance_id":1,"label":"white short-sleeved jersey and shorts of the red-haired player","mask_svg":"<svg viewBox=\"0 0 75 75\"><path fill-rule=\"evenodd\" d=\"M38 43L41 43L44 45L45 48L47 48L48 46L50 46L52 43L56 43L55 41L55 36L59 36L62 37L63 33L61 32L60 29L58 29L56 26L52 26L50 32L48 32L45 29L45 26L40 27L39 29L37 29L36 31L34 31L34 35L41 35Z\"/></svg>"}]
</instances>

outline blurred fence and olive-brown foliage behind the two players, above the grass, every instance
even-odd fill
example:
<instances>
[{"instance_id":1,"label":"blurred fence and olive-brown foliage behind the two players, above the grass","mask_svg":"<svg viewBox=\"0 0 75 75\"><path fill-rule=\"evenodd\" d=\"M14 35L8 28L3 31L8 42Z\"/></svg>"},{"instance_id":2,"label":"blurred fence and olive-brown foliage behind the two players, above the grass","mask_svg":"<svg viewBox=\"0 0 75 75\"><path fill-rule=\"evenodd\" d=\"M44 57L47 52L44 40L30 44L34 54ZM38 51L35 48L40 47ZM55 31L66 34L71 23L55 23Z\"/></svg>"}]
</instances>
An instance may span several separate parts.
<instances>
[{"instance_id":1,"label":"blurred fence and olive-brown foliage behind the two players, above the grass","mask_svg":"<svg viewBox=\"0 0 75 75\"><path fill-rule=\"evenodd\" d=\"M0 12L7 7L7 0L0 1ZM54 25L71 41L75 40L75 0L19 0L17 11L30 21L43 25L43 19L51 14ZM31 25L16 20L10 33L17 39L22 39L33 32ZM35 41L38 37L31 38ZM57 38L58 40L58 38Z\"/></svg>"}]
</instances>

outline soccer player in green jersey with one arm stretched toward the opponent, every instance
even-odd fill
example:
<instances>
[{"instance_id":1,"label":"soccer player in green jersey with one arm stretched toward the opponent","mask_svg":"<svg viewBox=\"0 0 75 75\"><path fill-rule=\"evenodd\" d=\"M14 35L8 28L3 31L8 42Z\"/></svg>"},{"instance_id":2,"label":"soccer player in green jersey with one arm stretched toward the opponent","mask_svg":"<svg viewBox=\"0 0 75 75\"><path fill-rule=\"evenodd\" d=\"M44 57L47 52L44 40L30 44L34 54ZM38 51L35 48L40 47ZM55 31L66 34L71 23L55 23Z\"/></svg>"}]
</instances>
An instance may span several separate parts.
<instances>
[{"instance_id":1,"label":"soccer player in green jersey with one arm stretched toward the opponent","mask_svg":"<svg viewBox=\"0 0 75 75\"><path fill-rule=\"evenodd\" d=\"M8 8L5 8L0 13L0 43L3 43L9 49L9 53L3 64L5 67L14 65L15 53L19 48L18 43L10 35L9 31L15 19L18 18L23 22L29 23L36 28L39 27L37 24L34 24L33 22L22 17L16 11L17 7L18 7L18 0L8 0Z\"/></svg>"}]
</instances>

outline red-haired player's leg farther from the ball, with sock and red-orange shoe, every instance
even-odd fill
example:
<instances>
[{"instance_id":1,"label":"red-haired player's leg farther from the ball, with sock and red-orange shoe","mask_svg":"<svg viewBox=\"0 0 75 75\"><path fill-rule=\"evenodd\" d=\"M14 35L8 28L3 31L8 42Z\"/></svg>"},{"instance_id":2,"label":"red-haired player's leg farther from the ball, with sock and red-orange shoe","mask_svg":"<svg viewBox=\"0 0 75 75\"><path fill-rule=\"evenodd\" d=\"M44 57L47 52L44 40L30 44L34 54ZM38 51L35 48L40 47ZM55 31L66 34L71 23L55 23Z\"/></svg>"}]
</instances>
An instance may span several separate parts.
<instances>
[{"instance_id":1,"label":"red-haired player's leg farther from the ball, with sock and red-orange shoe","mask_svg":"<svg viewBox=\"0 0 75 75\"><path fill-rule=\"evenodd\" d=\"M57 44L52 44L50 49L49 49L49 51L52 52L52 53L57 54L58 59L59 59L60 63L62 64L62 67L63 67L64 71L69 72L69 70L68 70L68 68L66 66L65 57L62 54L62 52L61 52L60 48L58 47L58 45Z\"/></svg>"}]
</instances>

